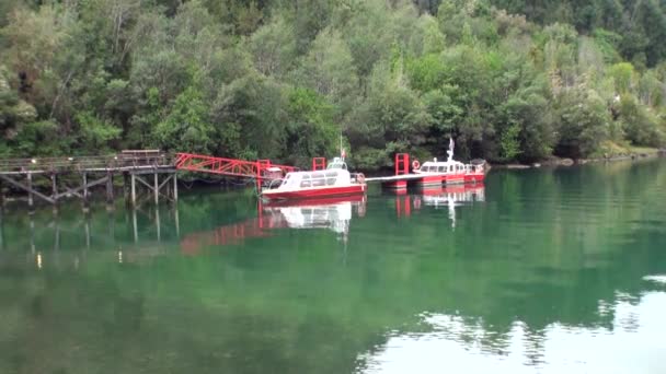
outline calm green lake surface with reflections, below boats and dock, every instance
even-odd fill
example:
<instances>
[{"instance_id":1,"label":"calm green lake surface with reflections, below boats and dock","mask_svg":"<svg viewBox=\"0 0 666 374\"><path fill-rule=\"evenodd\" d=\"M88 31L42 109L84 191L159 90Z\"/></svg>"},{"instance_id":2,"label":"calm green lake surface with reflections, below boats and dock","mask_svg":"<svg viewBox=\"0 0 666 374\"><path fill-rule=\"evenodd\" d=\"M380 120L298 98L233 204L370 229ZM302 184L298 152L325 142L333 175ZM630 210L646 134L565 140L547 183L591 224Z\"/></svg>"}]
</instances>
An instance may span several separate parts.
<instances>
[{"instance_id":1,"label":"calm green lake surface with reflections, below boats and dock","mask_svg":"<svg viewBox=\"0 0 666 374\"><path fill-rule=\"evenodd\" d=\"M666 160L317 207L19 208L0 373L666 373Z\"/></svg>"}]
</instances>

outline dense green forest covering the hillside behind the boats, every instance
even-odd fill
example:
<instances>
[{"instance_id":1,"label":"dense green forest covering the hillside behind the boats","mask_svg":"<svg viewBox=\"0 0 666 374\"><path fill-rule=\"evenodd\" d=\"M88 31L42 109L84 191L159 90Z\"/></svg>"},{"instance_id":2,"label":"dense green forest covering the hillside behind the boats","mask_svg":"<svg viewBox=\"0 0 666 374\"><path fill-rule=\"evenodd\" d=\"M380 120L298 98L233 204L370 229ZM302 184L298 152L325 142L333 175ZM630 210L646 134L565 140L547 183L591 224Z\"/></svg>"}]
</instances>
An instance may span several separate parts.
<instances>
[{"instance_id":1,"label":"dense green forest covering the hillside behind the boats","mask_svg":"<svg viewBox=\"0 0 666 374\"><path fill-rule=\"evenodd\" d=\"M666 0L2 0L0 157L666 143Z\"/></svg>"}]
</instances>

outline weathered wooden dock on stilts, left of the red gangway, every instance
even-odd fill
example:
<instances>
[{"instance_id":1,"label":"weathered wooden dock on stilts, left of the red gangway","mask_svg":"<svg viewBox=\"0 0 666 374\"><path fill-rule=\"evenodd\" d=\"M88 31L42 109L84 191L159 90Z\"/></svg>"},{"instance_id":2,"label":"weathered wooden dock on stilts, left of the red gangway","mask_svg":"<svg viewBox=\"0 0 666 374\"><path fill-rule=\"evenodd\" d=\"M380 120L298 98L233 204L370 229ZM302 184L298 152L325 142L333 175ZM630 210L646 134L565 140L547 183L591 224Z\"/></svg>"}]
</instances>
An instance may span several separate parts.
<instances>
[{"instance_id":1,"label":"weathered wooden dock on stilts, left of the red gangway","mask_svg":"<svg viewBox=\"0 0 666 374\"><path fill-rule=\"evenodd\" d=\"M12 195L24 196L30 208L35 200L57 206L70 197L81 199L87 207L92 192L101 191L113 201L114 182L120 176L124 195L133 206L140 202L142 190L156 204L160 197L177 200L172 157L157 150L128 150L107 156L0 160L0 204L4 203L5 187Z\"/></svg>"}]
</instances>

